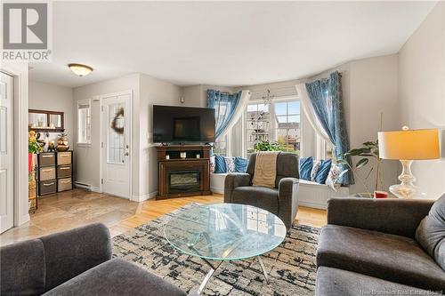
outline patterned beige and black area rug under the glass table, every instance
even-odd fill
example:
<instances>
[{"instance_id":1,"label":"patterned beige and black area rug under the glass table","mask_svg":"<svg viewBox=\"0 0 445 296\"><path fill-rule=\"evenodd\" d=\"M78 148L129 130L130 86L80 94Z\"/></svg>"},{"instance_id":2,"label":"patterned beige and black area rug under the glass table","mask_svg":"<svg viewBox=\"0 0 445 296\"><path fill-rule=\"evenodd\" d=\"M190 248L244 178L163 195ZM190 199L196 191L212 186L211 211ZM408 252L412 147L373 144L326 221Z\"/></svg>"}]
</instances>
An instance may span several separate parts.
<instances>
[{"instance_id":1,"label":"patterned beige and black area rug under the glass table","mask_svg":"<svg viewBox=\"0 0 445 296\"><path fill-rule=\"evenodd\" d=\"M176 211L198 206L188 204ZM175 212L176 212L175 211ZM133 261L186 292L197 291L209 270L206 263L176 251L164 238L174 212L113 238L115 256ZM228 261L216 269L204 295L313 295L315 251L320 229L294 225L283 244L262 256L269 284L257 260Z\"/></svg>"}]
</instances>

